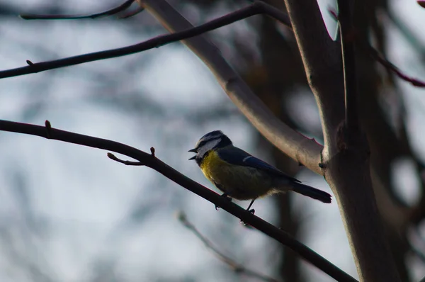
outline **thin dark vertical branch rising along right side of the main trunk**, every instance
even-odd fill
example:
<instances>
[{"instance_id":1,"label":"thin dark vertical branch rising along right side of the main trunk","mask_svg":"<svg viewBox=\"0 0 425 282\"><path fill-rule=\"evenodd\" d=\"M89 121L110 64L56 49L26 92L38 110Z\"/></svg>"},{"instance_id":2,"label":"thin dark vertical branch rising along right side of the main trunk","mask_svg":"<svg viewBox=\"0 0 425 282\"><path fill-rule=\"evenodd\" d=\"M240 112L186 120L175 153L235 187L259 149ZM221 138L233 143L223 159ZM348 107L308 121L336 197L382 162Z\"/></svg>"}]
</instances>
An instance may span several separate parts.
<instances>
[{"instance_id":1,"label":"thin dark vertical branch rising along right side of the main trunk","mask_svg":"<svg viewBox=\"0 0 425 282\"><path fill-rule=\"evenodd\" d=\"M345 97L345 125L348 145L353 138L359 135L360 125L358 120L358 93L356 50L354 47L354 28L352 9L353 1L338 0L339 9L339 38L341 39L342 68L344 70L344 97Z\"/></svg>"}]
</instances>

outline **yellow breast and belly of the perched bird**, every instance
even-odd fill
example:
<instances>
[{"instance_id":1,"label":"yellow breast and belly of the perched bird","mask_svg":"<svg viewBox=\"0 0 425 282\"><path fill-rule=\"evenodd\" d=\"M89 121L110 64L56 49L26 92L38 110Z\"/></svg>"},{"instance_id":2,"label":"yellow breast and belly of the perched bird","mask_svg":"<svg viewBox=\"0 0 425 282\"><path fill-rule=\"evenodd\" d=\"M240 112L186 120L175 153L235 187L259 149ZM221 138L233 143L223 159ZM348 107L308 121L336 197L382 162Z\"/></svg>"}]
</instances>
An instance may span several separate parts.
<instances>
[{"instance_id":1,"label":"yellow breast and belly of the perched bird","mask_svg":"<svg viewBox=\"0 0 425 282\"><path fill-rule=\"evenodd\" d=\"M238 200L265 196L272 191L271 179L262 171L229 164L220 159L214 150L205 155L200 169L217 188Z\"/></svg>"}]
</instances>

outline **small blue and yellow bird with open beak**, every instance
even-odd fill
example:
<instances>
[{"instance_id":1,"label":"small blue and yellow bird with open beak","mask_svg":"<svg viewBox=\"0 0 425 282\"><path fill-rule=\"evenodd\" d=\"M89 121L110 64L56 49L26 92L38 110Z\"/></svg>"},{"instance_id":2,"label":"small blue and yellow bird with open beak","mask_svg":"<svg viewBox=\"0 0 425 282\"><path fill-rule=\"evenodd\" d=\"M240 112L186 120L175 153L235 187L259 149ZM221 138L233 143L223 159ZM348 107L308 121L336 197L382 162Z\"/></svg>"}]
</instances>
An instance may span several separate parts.
<instances>
[{"instance_id":1,"label":"small blue and yellow bird with open beak","mask_svg":"<svg viewBox=\"0 0 425 282\"><path fill-rule=\"evenodd\" d=\"M190 159L194 159L205 177L223 192L222 196L251 200L246 210L251 208L256 198L286 191L331 203L329 193L301 184L298 179L234 147L229 137L220 130L203 135L196 147L188 152L196 153Z\"/></svg>"}]
</instances>

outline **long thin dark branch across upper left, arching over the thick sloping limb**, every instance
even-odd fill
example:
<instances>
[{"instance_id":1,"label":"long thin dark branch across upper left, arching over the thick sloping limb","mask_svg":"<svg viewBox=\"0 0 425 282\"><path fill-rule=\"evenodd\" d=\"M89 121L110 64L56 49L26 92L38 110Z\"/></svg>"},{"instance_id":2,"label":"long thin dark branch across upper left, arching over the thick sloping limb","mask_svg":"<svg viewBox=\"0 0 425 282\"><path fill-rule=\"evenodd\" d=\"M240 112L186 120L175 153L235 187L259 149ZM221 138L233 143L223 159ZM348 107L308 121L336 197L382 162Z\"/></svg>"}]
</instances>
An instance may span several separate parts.
<instances>
[{"instance_id":1,"label":"long thin dark branch across upper left, arching over the thick sloping limb","mask_svg":"<svg viewBox=\"0 0 425 282\"><path fill-rule=\"evenodd\" d=\"M137 43L135 45L130 45L117 49L87 53L84 55L77 55L74 57L65 57L59 60L38 63L34 63L30 60L27 60L27 63L29 65L26 67L18 67L16 69L6 69L4 71L0 71L0 79L6 77L16 77L24 74L34 74L37 72L44 72L48 69L69 67L75 64L83 64L85 62L111 59L114 57L121 57L135 54L138 52L143 52L153 48L162 47L164 45L174 43L180 40L185 40L187 38L193 38L194 36L201 35L208 31L227 26L236 21L241 21L244 18L249 18L250 16L258 15L261 13L266 13L269 16L277 17L279 21L290 25L289 20L287 17L285 17L284 13L280 13L277 9L267 4L263 4L263 2L256 2L254 4L251 4L250 6L246 6L245 8L234 11L233 13L229 13L220 18L216 18L215 20L212 20L208 23L204 23L203 25L197 27L191 26L190 28L186 28L186 30L183 30L179 33L157 36L156 38L152 38L143 43Z\"/></svg>"}]
</instances>

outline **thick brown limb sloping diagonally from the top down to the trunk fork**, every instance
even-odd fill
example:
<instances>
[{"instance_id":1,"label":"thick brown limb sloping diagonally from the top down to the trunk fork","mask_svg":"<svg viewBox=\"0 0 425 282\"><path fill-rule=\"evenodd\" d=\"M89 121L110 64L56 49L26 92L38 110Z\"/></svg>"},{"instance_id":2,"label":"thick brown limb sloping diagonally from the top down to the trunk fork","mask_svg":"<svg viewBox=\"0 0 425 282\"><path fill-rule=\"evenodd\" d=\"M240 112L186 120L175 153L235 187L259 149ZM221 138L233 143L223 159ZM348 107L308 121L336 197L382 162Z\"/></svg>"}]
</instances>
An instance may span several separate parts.
<instances>
[{"instance_id":1,"label":"thick brown limb sloping diagonally from the top down to the trunk fork","mask_svg":"<svg viewBox=\"0 0 425 282\"><path fill-rule=\"evenodd\" d=\"M138 2L171 32L193 28L191 23L166 1L138 0ZM253 5L261 3L256 2ZM183 43L210 68L229 98L264 137L296 162L304 164L317 174L322 174L322 169L319 167L322 145L295 132L276 118L226 62L220 50L217 50L217 47L212 45L205 36L190 38Z\"/></svg>"}]
</instances>

